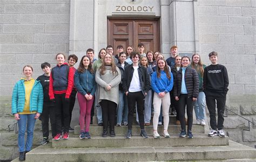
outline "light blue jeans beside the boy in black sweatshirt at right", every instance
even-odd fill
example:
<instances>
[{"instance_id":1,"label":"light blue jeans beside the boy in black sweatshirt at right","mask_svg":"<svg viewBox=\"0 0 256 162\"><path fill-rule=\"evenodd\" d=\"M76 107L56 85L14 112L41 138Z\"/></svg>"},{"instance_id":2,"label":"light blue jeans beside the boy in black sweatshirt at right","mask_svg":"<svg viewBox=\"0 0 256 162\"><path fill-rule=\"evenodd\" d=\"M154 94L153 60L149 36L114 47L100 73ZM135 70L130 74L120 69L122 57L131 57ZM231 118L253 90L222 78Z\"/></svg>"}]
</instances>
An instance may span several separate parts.
<instances>
[{"instance_id":1,"label":"light blue jeans beside the boy in black sweatshirt at right","mask_svg":"<svg viewBox=\"0 0 256 162\"><path fill-rule=\"evenodd\" d=\"M197 119L205 119L205 93L199 92L197 100L194 102L194 113Z\"/></svg>"}]
</instances>

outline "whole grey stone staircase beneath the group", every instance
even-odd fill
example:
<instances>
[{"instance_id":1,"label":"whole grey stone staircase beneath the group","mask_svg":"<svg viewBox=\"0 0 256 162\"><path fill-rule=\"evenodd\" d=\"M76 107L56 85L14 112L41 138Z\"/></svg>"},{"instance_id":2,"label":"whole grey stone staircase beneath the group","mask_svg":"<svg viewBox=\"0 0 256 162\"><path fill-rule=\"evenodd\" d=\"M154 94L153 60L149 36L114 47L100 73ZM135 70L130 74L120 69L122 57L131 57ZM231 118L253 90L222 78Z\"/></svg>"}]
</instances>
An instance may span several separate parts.
<instances>
[{"instance_id":1,"label":"whole grey stone staircase beneath the group","mask_svg":"<svg viewBox=\"0 0 256 162\"><path fill-rule=\"evenodd\" d=\"M125 139L127 126L115 127L116 137L103 138L103 127L92 124L92 138L82 140L77 125L69 139L38 146L26 154L26 161L256 161L255 149L228 137L207 137L205 126L193 125L193 139L179 138L180 126L174 121L175 117L170 116L171 138L160 139L152 137L152 125L145 126L149 138L139 136L139 126L133 125L133 136ZM163 132L163 126L158 132Z\"/></svg>"}]
</instances>

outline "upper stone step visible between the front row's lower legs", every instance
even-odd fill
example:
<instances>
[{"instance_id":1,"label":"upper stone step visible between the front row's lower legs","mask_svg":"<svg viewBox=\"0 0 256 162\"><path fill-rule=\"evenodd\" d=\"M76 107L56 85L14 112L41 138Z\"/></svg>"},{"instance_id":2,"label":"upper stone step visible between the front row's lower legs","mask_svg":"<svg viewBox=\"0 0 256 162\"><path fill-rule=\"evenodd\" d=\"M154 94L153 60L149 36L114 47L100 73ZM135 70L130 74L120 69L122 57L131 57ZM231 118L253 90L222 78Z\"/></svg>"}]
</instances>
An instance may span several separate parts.
<instances>
[{"instance_id":1,"label":"upper stone step visible between the front row's lower legs","mask_svg":"<svg viewBox=\"0 0 256 162\"><path fill-rule=\"evenodd\" d=\"M76 125L74 127L75 132L74 134L79 134L80 133L80 126ZM145 126L145 130L147 133L151 134L153 133L153 125L150 126ZM168 132L171 134L179 134L181 130L180 125L169 125L168 126ZM127 133L127 126L115 126L114 131L116 132L117 135L124 135ZM158 133L161 133L164 131L164 126L159 125L158 126ZM90 125L90 134L92 136L99 136L103 132L103 126L98 126L96 124L91 124ZM193 125L192 126L192 132L193 133L205 133L204 126L201 125ZM140 134L140 127L139 125L133 125L132 126L132 133L133 134Z\"/></svg>"}]
</instances>

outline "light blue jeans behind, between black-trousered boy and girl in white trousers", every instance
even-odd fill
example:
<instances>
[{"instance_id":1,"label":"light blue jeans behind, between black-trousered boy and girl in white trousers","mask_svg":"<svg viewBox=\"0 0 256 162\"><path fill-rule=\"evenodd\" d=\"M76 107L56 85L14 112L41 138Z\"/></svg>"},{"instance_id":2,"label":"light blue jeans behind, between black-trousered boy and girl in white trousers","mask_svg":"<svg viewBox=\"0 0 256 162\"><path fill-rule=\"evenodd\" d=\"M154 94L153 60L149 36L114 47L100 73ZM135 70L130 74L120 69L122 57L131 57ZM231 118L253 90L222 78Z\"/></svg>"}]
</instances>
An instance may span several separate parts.
<instances>
[{"instance_id":1,"label":"light blue jeans behind, between black-trousered boy and girl in white trousers","mask_svg":"<svg viewBox=\"0 0 256 162\"><path fill-rule=\"evenodd\" d=\"M145 97L145 103L144 103L144 122L145 123L150 123L151 106L152 106L152 91L149 90L147 92L147 96ZM139 122L137 107L136 107L136 121Z\"/></svg>"}]
</instances>

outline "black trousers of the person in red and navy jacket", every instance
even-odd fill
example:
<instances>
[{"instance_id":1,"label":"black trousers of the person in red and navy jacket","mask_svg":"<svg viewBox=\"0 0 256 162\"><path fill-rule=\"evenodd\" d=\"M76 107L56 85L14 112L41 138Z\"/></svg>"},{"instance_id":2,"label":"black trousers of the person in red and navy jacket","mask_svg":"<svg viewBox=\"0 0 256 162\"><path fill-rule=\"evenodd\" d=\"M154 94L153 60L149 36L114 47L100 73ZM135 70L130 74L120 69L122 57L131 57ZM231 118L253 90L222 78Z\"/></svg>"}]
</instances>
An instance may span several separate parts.
<instances>
[{"instance_id":1,"label":"black trousers of the person in red and navy jacket","mask_svg":"<svg viewBox=\"0 0 256 162\"><path fill-rule=\"evenodd\" d=\"M69 132L69 100L65 99L66 93L55 94L55 118L56 118L56 133ZM63 125L62 125L63 121Z\"/></svg>"}]
</instances>

